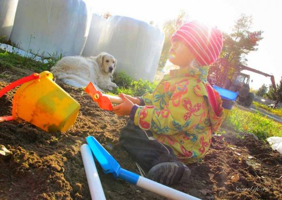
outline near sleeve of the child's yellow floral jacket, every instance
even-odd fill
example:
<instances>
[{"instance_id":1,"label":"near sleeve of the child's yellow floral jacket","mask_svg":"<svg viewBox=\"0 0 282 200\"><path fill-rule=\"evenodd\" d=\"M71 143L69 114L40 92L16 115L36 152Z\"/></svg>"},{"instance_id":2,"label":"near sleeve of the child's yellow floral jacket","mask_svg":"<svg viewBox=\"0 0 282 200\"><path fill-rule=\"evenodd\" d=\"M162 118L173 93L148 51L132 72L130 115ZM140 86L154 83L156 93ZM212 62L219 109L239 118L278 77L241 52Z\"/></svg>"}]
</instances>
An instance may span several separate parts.
<instances>
[{"instance_id":1,"label":"near sleeve of the child's yellow floral jacket","mask_svg":"<svg viewBox=\"0 0 282 200\"><path fill-rule=\"evenodd\" d=\"M144 130L172 135L194 128L207 112L207 102L196 95L193 85L178 85L163 110L153 105L138 107L134 124Z\"/></svg>"}]
</instances>

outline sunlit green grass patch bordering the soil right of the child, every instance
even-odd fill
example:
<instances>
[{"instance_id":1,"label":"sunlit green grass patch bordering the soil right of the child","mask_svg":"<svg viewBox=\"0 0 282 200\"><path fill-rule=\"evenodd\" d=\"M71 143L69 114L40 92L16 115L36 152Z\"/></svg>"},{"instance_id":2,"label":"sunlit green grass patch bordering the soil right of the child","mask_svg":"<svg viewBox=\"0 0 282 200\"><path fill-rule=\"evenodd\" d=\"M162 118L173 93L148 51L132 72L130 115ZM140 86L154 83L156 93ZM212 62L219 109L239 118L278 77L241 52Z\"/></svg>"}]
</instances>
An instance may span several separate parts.
<instances>
[{"instance_id":1,"label":"sunlit green grass patch bordering the soil right of the child","mask_svg":"<svg viewBox=\"0 0 282 200\"><path fill-rule=\"evenodd\" d=\"M282 137L282 124L267 118L260 112L251 113L233 108L224 123L235 131L254 133L262 140L271 136Z\"/></svg>"}]
</instances>

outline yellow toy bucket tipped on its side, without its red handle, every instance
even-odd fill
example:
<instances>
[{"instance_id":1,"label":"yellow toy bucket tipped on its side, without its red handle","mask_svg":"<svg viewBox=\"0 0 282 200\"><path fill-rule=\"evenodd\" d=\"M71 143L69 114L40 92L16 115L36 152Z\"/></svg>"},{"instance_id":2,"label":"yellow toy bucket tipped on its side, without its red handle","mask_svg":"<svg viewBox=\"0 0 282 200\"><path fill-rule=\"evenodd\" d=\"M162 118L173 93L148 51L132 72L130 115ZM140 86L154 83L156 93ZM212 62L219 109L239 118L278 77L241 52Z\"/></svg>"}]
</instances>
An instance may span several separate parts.
<instances>
[{"instance_id":1,"label":"yellow toy bucket tipped on its side, without its red handle","mask_svg":"<svg viewBox=\"0 0 282 200\"><path fill-rule=\"evenodd\" d=\"M74 124L80 105L53 81L53 74L22 84L13 100L13 118L49 132L66 131Z\"/></svg>"}]
</instances>

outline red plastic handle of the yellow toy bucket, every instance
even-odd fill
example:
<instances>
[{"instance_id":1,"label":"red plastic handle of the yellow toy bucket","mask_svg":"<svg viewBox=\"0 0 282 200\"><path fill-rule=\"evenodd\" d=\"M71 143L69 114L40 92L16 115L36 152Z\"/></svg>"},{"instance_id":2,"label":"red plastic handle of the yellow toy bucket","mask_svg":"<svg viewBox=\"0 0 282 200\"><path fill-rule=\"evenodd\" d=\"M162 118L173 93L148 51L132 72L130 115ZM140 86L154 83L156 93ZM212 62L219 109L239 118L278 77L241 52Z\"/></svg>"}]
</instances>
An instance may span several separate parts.
<instances>
[{"instance_id":1,"label":"red plastic handle of the yellow toy bucket","mask_svg":"<svg viewBox=\"0 0 282 200\"><path fill-rule=\"evenodd\" d=\"M34 79L39 79L40 75L38 73L33 73L29 76L23 77L19 80L16 80L14 82L12 82L11 84L7 85L6 87L2 88L0 90L0 97L2 97L4 94L6 94L9 90L19 86L20 84L23 84L25 82L34 80ZM0 117L0 122L4 122L4 121L10 121L13 120L13 116L5 116L5 117Z\"/></svg>"}]
</instances>

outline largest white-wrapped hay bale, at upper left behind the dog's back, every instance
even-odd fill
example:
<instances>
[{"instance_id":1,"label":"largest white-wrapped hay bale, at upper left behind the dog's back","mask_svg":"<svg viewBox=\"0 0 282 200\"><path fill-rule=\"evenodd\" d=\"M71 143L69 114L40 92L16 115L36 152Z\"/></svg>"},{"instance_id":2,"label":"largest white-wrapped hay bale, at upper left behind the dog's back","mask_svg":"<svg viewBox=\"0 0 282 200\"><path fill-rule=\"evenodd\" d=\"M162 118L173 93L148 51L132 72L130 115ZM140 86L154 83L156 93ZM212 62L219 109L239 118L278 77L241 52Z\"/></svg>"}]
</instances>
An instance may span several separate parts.
<instances>
[{"instance_id":1,"label":"largest white-wrapped hay bale, at upper left behind the dog's back","mask_svg":"<svg viewBox=\"0 0 282 200\"><path fill-rule=\"evenodd\" d=\"M91 18L83 0L19 0L11 41L43 57L80 55Z\"/></svg>"}]
</instances>

